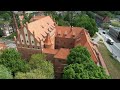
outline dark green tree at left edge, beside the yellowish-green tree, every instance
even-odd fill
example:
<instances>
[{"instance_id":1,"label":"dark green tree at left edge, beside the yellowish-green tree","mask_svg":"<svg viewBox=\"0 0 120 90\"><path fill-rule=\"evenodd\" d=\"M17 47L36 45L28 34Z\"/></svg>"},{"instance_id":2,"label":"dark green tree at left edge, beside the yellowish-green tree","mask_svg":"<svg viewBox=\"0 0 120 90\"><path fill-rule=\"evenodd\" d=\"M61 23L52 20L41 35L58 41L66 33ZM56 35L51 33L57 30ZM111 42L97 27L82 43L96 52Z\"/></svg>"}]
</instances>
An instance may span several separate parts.
<instances>
[{"instance_id":1,"label":"dark green tree at left edge, beside the yellowish-green tree","mask_svg":"<svg viewBox=\"0 0 120 90\"><path fill-rule=\"evenodd\" d=\"M6 49L0 55L0 64L3 64L9 70L11 70L13 76L16 72L26 72L30 70L29 65L25 60L21 59L20 53L15 49Z\"/></svg>"}]
</instances>

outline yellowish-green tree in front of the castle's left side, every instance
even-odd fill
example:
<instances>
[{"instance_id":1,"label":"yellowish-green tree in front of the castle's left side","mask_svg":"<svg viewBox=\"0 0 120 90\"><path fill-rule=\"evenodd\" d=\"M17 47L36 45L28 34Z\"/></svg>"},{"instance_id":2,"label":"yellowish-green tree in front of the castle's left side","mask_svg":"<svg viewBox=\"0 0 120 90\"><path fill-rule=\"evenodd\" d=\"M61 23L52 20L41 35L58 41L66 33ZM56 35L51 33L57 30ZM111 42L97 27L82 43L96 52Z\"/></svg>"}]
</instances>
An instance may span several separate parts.
<instances>
[{"instance_id":1,"label":"yellowish-green tree in front of the castle's left side","mask_svg":"<svg viewBox=\"0 0 120 90\"><path fill-rule=\"evenodd\" d=\"M18 72L17 79L53 79L54 69L51 62L46 61L44 54L33 54L29 61L31 70L26 73Z\"/></svg>"}]
</instances>

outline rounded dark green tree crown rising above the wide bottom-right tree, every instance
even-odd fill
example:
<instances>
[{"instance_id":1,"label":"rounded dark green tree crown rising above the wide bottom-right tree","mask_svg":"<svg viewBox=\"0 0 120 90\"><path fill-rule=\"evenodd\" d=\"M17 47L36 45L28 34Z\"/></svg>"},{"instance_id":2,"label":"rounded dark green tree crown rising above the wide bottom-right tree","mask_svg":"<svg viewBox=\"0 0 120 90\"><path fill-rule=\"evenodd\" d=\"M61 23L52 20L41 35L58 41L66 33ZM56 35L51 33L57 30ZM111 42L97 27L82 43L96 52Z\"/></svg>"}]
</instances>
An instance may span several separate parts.
<instances>
[{"instance_id":1,"label":"rounded dark green tree crown rising above the wide bottom-right tree","mask_svg":"<svg viewBox=\"0 0 120 90\"><path fill-rule=\"evenodd\" d=\"M88 62L90 58L91 55L87 48L77 46L70 50L70 54L67 57L67 64Z\"/></svg>"}]
</instances>

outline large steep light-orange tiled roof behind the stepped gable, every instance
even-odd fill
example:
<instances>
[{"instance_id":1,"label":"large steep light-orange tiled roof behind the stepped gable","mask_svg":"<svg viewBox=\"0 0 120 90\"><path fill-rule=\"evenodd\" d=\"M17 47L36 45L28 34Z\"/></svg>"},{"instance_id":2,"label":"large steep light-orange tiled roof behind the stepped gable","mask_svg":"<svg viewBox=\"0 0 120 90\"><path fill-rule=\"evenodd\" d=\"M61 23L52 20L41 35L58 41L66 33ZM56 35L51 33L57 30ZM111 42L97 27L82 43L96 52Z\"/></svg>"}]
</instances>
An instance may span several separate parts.
<instances>
[{"instance_id":1,"label":"large steep light-orange tiled roof behind the stepped gable","mask_svg":"<svg viewBox=\"0 0 120 90\"><path fill-rule=\"evenodd\" d=\"M45 16L40 18L34 22L30 22L27 24L28 30L35 35L35 38L38 41L45 41L47 33L52 36L52 32L55 31L54 21L50 18L50 16Z\"/></svg>"}]
</instances>

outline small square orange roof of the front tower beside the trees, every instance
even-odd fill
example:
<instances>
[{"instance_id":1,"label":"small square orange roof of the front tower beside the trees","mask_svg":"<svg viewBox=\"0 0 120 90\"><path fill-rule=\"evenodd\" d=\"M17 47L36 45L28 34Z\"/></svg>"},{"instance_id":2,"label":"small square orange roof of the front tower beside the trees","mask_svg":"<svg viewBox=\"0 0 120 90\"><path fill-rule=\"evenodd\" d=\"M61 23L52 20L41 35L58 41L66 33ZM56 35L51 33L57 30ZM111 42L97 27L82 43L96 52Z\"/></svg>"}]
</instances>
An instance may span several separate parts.
<instances>
[{"instance_id":1,"label":"small square orange roof of the front tower beside the trees","mask_svg":"<svg viewBox=\"0 0 120 90\"><path fill-rule=\"evenodd\" d=\"M60 50L56 53L54 58L66 60L69 53L70 53L70 49L60 48Z\"/></svg>"}]
</instances>

